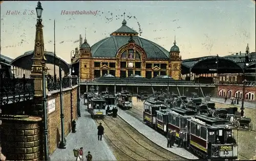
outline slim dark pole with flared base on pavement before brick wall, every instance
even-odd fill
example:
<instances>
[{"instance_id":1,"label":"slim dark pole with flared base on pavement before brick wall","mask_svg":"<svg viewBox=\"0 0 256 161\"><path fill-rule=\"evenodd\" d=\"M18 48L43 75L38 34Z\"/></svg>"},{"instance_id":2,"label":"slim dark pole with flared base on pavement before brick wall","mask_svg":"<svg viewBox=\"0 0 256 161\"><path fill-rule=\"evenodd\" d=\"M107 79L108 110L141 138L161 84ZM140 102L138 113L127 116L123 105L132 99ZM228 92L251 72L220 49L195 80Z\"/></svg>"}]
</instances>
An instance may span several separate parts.
<instances>
[{"instance_id":1,"label":"slim dark pole with flared base on pavement before brick wall","mask_svg":"<svg viewBox=\"0 0 256 161\"><path fill-rule=\"evenodd\" d=\"M59 93L60 93L60 125L61 125L61 141L59 143L59 148L66 149L61 71L62 69L60 68L60 60L59 60Z\"/></svg>"}]
</instances>

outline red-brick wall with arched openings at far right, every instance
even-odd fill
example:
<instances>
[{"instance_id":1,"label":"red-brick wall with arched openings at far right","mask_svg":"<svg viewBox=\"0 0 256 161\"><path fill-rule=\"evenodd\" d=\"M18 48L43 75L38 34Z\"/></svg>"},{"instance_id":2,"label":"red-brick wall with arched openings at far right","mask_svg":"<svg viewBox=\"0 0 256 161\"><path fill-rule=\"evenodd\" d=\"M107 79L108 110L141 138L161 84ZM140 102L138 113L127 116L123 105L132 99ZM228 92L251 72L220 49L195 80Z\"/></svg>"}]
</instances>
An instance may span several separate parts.
<instances>
[{"instance_id":1,"label":"red-brick wall with arched openings at far right","mask_svg":"<svg viewBox=\"0 0 256 161\"><path fill-rule=\"evenodd\" d=\"M223 90L225 92L225 95L227 95L227 92L228 91L231 91L231 97L236 97L235 96L235 93L237 91L241 91L241 93L243 92L243 86L241 85L219 85L218 86L218 95L219 95L219 92ZM246 94L248 92L251 92L254 94L254 100L250 100L250 101L255 101L255 94L256 94L256 88L255 87L248 87L248 86L245 86L245 95L244 97L246 96ZM246 98L245 98L246 99Z\"/></svg>"}]
</instances>

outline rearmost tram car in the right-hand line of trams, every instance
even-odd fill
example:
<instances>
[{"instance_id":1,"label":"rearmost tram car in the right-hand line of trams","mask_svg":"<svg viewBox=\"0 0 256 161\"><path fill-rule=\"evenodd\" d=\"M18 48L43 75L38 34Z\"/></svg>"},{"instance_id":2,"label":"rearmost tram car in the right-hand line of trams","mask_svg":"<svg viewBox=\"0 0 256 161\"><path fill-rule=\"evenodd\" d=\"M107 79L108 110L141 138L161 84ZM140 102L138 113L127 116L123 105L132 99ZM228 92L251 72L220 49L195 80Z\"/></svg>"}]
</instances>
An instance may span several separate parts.
<instances>
[{"instance_id":1,"label":"rearmost tram car in the right-hand line of trams","mask_svg":"<svg viewBox=\"0 0 256 161\"><path fill-rule=\"evenodd\" d=\"M145 124L155 128L156 127L156 117L157 113L156 111L158 110L164 110L167 109L168 107L164 105L164 102L158 99L155 99L153 97L148 98L144 103L143 103L143 120Z\"/></svg>"}]
</instances>

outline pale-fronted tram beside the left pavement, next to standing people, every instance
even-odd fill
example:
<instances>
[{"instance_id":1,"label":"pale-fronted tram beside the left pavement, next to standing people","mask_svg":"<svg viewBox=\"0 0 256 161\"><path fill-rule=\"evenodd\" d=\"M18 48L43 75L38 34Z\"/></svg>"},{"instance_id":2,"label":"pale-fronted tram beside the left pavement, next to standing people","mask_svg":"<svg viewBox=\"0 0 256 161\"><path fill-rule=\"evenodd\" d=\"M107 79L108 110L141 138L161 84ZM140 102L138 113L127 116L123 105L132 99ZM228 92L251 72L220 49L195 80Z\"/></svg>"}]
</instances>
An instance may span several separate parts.
<instances>
[{"instance_id":1,"label":"pale-fronted tram beside the left pavement, next to standing people","mask_svg":"<svg viewBox=\"0 0 256 161\"><path fill-rule=\"evenodd\" d=\"M92 109L90 110L92 118L104 117L106 115L106 101L101 96L91 98Z\"/></svg>"}]
</instances>

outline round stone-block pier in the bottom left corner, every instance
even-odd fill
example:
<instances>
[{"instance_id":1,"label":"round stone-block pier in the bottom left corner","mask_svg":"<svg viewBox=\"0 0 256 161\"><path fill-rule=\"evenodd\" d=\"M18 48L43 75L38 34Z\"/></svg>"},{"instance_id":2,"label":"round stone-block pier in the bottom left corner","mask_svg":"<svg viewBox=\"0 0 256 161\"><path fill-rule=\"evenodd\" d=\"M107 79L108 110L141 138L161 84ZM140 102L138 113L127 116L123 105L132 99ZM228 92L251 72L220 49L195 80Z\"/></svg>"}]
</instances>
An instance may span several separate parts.
<instances>
[{"instance_id":1,"label":"round stone-block pier in the bottom left corner","mask_svg":"<svg viewBox=\"0 0 256 161\"><path fill-rule=\"evenodd\" d=\"M42 119L30 116L1 117L2 151L7 160L42 160Z\"/></svg>"}]
</instances>

